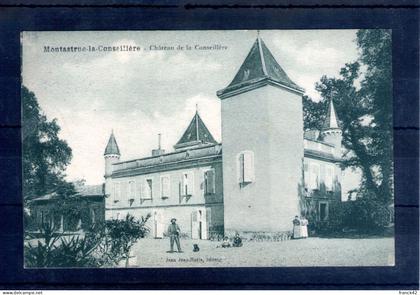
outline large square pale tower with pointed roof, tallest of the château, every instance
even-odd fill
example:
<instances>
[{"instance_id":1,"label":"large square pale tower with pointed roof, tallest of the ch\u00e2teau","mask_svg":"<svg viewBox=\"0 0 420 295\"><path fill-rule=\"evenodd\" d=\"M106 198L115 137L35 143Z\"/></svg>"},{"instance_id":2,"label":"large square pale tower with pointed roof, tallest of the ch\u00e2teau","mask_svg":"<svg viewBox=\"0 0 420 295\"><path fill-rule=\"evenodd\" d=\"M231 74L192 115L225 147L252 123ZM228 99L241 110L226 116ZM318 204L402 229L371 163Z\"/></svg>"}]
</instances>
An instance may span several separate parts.
<instances>
[{"instance_id":1,"label":"large square pale tower with pointed roof, tallest of the ch\u00e2teau","mask_svg":"<svg viewBox=\"0 0 420 295\"><path fill-rule=\"evenodd\" d=\"M222 108L225 232L278 232L298 215L303 161L303 89L258 36Z\"/></svg>"}]
</instances>

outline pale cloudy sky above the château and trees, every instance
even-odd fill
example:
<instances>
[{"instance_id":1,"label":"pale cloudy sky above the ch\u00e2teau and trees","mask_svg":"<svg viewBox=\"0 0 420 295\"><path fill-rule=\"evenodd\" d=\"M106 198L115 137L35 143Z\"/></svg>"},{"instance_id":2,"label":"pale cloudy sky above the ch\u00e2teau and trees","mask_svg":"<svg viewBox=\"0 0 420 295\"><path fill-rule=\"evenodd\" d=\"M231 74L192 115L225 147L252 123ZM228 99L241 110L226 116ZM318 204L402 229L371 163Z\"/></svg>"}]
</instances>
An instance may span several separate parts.
<instances>
[{"instance_id":1,"label":"pale cloudy sky above the ch\u00e2teau and trees","mask_svg":"<svg viewBox=\"0 0 420 295\"><path fill-rule=\"evenodd\" d=\"M171 151L197 105L221 141L216 91L232 81L256 36L256 31L23 32L23 85L35 93L48 119L57 118L60 137L73 150L67 178L98 184L111 130L122 160L151 155L158 133L162 147ZM260 36L292 81L314 100L320 99L315 83L323 75L338 76L345 63L357 59L356 30L262 30ZM44 46L118 45L141 50L44 52Z\"/></svg>"}]
</instances>

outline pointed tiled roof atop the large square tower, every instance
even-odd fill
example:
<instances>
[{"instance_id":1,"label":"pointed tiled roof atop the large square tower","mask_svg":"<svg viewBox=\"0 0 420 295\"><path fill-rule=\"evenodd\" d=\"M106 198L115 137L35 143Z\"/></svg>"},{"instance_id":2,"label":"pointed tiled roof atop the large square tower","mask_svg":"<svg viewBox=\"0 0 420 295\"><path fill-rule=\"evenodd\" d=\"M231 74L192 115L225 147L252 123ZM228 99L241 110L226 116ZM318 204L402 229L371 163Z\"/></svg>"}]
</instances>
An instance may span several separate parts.
<instances>
[{"instance_id":1,"label":"pointed tiled roof atop the large square tower","mask_svg":"<svg viewBox=\"0 0 420 295\"><path fill-rule=\"evenodd\" d=\"M298 93L304 92L303 88L287 76L258 35L235 78L228 87L219 90L217 95L223 99L267 84L288 88Z\"/></svg>"}]
</instances>

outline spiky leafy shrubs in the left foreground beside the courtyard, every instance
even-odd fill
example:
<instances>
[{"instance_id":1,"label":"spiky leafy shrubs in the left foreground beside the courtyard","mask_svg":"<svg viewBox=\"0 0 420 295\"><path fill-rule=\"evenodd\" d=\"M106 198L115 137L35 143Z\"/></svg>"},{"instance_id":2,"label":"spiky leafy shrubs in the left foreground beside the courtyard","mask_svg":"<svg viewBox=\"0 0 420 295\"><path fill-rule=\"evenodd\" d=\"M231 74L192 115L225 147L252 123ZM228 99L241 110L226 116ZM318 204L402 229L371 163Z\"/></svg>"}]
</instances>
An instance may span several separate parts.
<instances>
[{"instance_id":1,"label":"spiky leafy shrubs in the left foreground beside the courtyard","mask_svg":"<svg viewBox=\"0 0 420 295\"><path fill-rule=\"evenodd\" d=\"M54 229L45 224L37 245L29 242L25 245L25 266L116 266L124 259L128 261L132 246L149 232L145 225L149 218L147 215L136 220L127 215L124 220L108 220L95 225L84 236L71 237L54 234Z\"/></svg>"}]
</instances>

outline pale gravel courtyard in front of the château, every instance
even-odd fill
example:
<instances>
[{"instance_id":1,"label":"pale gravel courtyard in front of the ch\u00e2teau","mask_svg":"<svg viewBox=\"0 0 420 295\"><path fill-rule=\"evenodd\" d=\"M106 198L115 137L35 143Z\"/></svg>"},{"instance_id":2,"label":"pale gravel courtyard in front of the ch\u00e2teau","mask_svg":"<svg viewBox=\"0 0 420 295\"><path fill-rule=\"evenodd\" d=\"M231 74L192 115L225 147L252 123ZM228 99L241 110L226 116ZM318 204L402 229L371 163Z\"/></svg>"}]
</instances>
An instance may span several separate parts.
<instances>
[{"instance_id":1,"label":"pale gravel courtyard in front of the ch\u00e2teau","mask_svg":"<svg viewBox=\"0 0 420 295\"><path fill-rule=\"evenodd\" d=\"M193 252L193 244L200 247ZM392 266L394 239L308 238L283 242L245 242L217 248L220 242L181 240L184 253L167 253L168 239L142 239L133 247L131 267ZM137 261L137 262L135 262Z\"/></svg>"}]
</instances>

